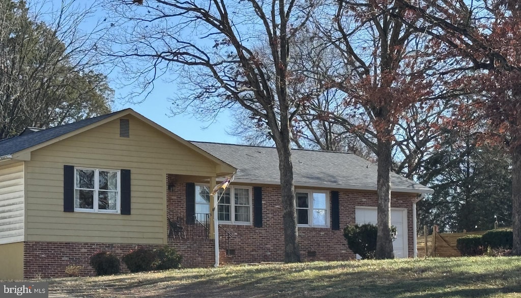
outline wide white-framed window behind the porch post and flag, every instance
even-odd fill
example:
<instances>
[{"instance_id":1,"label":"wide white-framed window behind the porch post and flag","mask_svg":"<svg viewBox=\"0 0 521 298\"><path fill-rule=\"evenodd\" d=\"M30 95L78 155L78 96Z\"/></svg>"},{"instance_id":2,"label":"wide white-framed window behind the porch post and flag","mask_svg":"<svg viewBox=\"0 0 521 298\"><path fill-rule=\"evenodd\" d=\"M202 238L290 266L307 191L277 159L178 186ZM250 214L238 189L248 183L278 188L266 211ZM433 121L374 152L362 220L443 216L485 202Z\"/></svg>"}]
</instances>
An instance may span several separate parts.
<instances>
[{"instance_id":1,"label":"wide white-framed window behind the porch post and flag","mask_svg":"<svg viewBox=\"0 0 521 298\"><path fill-rule=\"evenodd\" d=\"M221 196L222 195L222 196ZM217 218L220 223L231 223L234 225L252 224L252 189L249 187L229 187L217 193L219 199L217 205ZM210 191L207 185L195 185L195 214L209 214Z\"/></svg>"}]
</instances>

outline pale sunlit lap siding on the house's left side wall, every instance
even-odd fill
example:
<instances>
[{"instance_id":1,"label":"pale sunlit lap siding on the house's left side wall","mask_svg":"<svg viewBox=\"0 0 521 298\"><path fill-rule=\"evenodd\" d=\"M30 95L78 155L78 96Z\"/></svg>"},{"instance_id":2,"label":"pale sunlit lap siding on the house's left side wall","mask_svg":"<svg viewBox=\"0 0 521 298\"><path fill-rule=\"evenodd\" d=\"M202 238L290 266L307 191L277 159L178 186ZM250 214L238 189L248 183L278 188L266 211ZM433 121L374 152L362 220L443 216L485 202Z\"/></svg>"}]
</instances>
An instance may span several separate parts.
<instances>
[{"instance_id":1,"label":"pale sunlit lap siding on the house's left side wall","mask_svg":"<svg viewBox=\"0 0 521 298\"><path fill-rule=\"evenodd\" d=\"M0 166L0 244L23 241L23 162Z\"/></svg>"}]
</instances>

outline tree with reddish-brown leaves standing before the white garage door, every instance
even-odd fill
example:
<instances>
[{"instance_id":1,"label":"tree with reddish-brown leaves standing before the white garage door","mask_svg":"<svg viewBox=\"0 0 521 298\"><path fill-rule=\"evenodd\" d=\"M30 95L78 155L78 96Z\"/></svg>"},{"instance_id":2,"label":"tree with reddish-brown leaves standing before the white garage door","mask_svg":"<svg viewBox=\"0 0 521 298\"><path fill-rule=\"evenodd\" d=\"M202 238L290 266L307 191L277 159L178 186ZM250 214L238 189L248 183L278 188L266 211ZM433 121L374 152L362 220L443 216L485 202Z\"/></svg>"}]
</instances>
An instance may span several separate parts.
<instances>
[{"instance_id":1,"label":"tree with reddish-brown leaves standing before the white garage door","mask_svg":"<svg viewBox=\"0 0 521 298\"><path fill-rule=\"evenodd\" d=\"M406 123L420 120L416 119L417 109L433 108L435 100L444 96L440 94L443 81L431 58L437 47L427 44L420 34L395 17L405 16L407 9L394 1L339 1L324 11L328 17L322 19L332 19L333 23L317 19L317 28L339 57L338 67L329 71L329 82L345 94L341 103L349 108L340 115L327 110L321 113L357 135L378 158L376 258L393 258L393 145L400 148L400 143L421 141L425 147L432 141L431 133L424 133L425 129L411 131ZM403 153L410 159L401 165L405 169L417 157L412 151Z\"/></svg>"}]
</instances>

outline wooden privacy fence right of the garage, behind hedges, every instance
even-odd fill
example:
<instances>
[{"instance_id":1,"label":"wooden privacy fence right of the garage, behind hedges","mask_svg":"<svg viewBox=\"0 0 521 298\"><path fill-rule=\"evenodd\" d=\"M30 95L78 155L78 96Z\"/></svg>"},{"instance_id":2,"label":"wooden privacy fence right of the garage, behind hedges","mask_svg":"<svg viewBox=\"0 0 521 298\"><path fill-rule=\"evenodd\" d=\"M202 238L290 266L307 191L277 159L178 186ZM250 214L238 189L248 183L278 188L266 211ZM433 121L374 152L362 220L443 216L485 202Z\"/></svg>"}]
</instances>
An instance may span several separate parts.
<instances>
[{"instance_id":1,"label":"wooden privacy fence right of the garage, behind hedges","mask_svg":"<svg viewBox=\"0 0 521 298\"><path fill-rule=\"evenodd\" d=\"M482 235L487 231L463 232L463 233L438 233L438 226L432 228L432 234L427 234L427 226L424 226L424 235L416 239L418 257L457 257L461 256L456 248L456 240L466 235Z\"/></svg>"}]
</instances>

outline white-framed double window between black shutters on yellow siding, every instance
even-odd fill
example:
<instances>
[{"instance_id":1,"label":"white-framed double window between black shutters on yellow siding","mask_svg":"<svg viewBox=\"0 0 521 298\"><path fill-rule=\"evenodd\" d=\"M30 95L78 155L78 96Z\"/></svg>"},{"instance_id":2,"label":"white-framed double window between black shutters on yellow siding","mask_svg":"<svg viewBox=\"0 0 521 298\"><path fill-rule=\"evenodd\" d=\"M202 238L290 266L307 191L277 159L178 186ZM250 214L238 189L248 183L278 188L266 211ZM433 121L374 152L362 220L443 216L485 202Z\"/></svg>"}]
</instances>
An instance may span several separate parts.
<instances>
[{"instance_id":1,"label":"white-framed double window between black shutters on yellow siding","mask_svg":"<svg viewBox=\"0 0 521 298\"><path fill-rule=\"evenodd\" d=\"M119 170L75 168L74 210L119 213L120 181Z\"/></svg>"}]
</instances>

